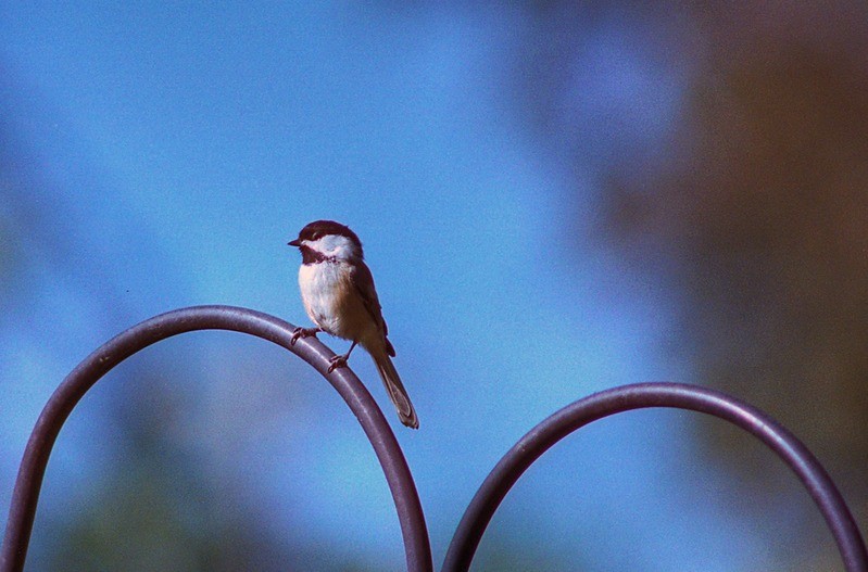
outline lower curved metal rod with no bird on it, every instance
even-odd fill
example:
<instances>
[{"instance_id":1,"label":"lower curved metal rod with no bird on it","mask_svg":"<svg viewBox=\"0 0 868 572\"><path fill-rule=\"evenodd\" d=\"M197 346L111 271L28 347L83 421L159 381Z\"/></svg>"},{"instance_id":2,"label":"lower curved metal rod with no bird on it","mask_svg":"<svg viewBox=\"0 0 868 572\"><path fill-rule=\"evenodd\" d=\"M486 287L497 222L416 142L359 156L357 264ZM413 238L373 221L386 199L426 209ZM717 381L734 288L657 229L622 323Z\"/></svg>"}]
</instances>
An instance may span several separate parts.
<instances>
[{"instance_id":1,"label":"lower curved metal rod with no bird on it","mask_svg":"<svg viewBox=\"0 0 868 572\"><path fill-rule=\"evenodd\" d=\"M510 449L477 491L452 537L443 572L466 571L479 541L506 493L521 473L555 443L611 415L649 407L674 407L713 415L765 443L798 475L832 530L848 572L867 572L868 555L841 493L812 453L769 416L722 393L678 383L639 383L579 399L543 420Z\"/></svg>"}]
</instances>

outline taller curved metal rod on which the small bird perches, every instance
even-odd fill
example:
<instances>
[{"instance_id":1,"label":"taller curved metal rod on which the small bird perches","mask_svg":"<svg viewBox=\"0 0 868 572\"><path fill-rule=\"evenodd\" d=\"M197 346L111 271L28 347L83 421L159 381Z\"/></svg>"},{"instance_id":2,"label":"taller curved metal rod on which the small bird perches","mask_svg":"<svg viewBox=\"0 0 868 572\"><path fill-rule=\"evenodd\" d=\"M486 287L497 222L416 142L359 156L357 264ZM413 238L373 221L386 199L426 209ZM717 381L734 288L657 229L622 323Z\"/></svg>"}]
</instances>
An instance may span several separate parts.
<instances>
[{"instance_id":1,"label":"taller curved metal rod on which the small bird perches","mask_svg":"<svg viewBox=\"0 0 868 572\"><path fill-rule=\"evenodd\" d=\"M42 409L24 452L12 493L0 571L18 572L24 568L48 457L73 407L102 376L127 357L166 338L196 330L230 330L274 342L311 364L331 383L358 418L386 473L401 522L407 570L431 572L428 530L413 475L370 393L349 368L328 373L328 358L332 354L315 338L290 345L292 325L267 314L232 306L194 306L144 320L106 342L63 380Z\"/></svg>"}]
</instances>

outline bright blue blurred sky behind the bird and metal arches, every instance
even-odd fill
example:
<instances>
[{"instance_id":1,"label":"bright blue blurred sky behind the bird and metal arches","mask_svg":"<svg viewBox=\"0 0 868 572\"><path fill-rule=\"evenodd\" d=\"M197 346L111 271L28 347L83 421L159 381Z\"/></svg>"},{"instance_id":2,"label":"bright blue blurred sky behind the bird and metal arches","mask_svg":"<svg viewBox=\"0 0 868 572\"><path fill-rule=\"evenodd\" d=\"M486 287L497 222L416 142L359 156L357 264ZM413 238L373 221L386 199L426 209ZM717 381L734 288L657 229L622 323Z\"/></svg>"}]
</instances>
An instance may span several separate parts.
<instances>
[{"instance_id":1,"label":"bright blue blurred sky behind the bird and metal arches","mask_svg":"<svg viewBox=\"0 0 868 572\"><path fill-rule=\"evenodd\" d=\"M600 164L665 138L689 69L652 61L630 28L641 22L589 26L581 97L565 110L589 126L577 142L589 161L567 173L511 97L504 53L525 21L519 10L389 3L4 3L7 152L14 177L38 190L8 186L0 204L14 238L0 506L51 391L124 328L196 304L305 325L300 257L286 242L317 218L365 243L422 429L398 423L366 356L351 364L394 421L437 567L478 485L534 423L617 384L699 383L662 351L667 297L594 234ZM613 116L621 122L607 131ZM578 213L566 200L577 178ZM342 546L372 570L403 565L379 466L316 374L237 335L171 344L153 354L185 356L198 376L156 374L186 384L177 438L215 487L243 490L277 537ZM111 405L124 393L111 383L61 434L36 562L40 519L79 507L123 447ZM638 412L574 435L511 493L483 547L518 539L564 570L576 555L590 570L763 568L753 535L781 523L726 510L690 419Z\"/></svg>"}]
</instances>

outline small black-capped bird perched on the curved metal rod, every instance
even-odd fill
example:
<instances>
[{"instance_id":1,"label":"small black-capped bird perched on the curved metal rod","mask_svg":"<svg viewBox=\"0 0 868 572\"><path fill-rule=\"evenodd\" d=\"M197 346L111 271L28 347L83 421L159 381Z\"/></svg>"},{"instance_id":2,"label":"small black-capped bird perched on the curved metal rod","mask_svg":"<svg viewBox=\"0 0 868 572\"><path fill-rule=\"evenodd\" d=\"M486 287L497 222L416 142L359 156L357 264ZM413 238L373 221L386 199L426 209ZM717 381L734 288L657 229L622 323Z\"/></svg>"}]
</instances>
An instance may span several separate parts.
<instances>
[{"instance_id":1,"label":"small black-capped bird perched on the curved metal rod","mask_svg":"<svg viewBox=\"0 0 868 572\"><path fill-rule=\"evenodd\" d=\"M351 341L345 354L331 358L329 373L345 367L353 348L361 345L374 359L401 422L418 429L416 410L392 364L394 346L388 338L389 329L358 236L340 223L315 220L287 244L301 251L299 290L304 309L316 325L297 328L291 344L317 332Z\"/></svg>"}]
</instances>

